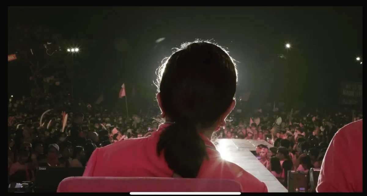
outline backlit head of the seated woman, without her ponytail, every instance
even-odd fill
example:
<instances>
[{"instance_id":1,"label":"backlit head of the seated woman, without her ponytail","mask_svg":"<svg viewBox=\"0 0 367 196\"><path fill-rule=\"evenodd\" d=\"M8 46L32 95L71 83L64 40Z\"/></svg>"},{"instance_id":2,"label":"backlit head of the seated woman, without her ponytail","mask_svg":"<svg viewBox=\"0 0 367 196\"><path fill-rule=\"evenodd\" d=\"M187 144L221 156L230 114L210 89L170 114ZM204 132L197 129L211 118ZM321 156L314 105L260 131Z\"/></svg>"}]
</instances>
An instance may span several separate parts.
<instances>
[{"instance_id":1,"label":"backlit head of the seated woman, without her ponytail","mask_svg":"<svg viewBox=\"0 0 367 196\"><path fill-rule=\"evenodd\" d=\"M160 109L172 122L201 129L224 126L235 106L236 66L225 50L210 42L182 44L159 69L157 81Z\"/></svg>"}]
</instances>

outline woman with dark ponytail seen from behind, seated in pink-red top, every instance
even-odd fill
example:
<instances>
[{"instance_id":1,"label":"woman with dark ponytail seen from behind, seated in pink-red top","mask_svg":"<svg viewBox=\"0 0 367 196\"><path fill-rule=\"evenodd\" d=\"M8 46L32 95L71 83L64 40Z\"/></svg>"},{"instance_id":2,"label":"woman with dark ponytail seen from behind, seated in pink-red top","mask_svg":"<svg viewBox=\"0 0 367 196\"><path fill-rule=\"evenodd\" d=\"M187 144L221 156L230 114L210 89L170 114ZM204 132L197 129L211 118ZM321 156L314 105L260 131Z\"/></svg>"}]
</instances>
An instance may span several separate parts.
<instances>
[{"instance_id":1,"label":"woman with dark ponytail seen from behind, seated in pink-red top","mask_svg":"<svg viewBox=\"0 0 367 196\"><path fill-rule=\"evenodd\" d=\"M238 181L244 192L268 192L210 141L235 107L236 66L210 42L195 41L159 69L158 105L166 122L150 137L96 149L83 176L219 178Z\"/></svg>"}]
</instances>

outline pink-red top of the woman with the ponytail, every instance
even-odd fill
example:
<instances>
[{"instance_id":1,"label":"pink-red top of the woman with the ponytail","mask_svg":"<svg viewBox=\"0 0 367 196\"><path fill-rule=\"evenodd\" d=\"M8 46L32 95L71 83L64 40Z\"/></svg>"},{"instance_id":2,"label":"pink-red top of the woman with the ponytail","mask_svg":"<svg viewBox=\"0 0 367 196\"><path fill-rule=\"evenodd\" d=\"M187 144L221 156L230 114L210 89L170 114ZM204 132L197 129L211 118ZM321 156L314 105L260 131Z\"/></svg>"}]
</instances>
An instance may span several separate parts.
<instances>
[{"instance_id":1,"label":"pink-red top of the woman with the ponytail","mask_svg":"<svg viewBox=\"0 0 367 196\"><path fill-rule=\"evenodd\" d=\"M83 176L100 177L172 177L163 154L157 156L156 145L161 131L169 124L161 124L150 137L123 140L97 148L88 161ZM197 178L231 179L240 182L244 192L268 192L259 181L235 163L226 161L210 140L201 136L207 145L209 159L204 159Z\"/></svg>"}]
</instances>

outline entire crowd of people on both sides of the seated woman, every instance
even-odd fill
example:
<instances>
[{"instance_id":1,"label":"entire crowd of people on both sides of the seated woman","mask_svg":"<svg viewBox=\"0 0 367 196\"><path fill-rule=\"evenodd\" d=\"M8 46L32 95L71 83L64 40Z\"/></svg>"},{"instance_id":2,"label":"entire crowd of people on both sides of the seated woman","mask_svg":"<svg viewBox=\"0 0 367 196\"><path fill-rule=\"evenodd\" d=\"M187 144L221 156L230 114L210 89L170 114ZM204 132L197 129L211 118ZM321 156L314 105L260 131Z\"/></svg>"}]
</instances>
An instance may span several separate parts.
<instances>
[{"instance_id":1,"label":"entire crowd of people on both sides of the seated woman","mask_svg":"<svg viewBox=\"0 0 367 196\"><path fill-rule=\"evenodd\" d=\"M54 101L51 101L54 100ZM85 167L92 152L120 140L147 137L156 131L159 109L127 116L83 101L51 95L12 99L8 117L8 181L33 181L38 167ZM362 118L361 113L321 110L269 109L233 112L213 140L262 139L261 163L287 185L287 171L319 168L337 130ZM283 120L282 120L283 119ZM22 175L28 169L33 174Z\"/></svg>"}]
</instances>

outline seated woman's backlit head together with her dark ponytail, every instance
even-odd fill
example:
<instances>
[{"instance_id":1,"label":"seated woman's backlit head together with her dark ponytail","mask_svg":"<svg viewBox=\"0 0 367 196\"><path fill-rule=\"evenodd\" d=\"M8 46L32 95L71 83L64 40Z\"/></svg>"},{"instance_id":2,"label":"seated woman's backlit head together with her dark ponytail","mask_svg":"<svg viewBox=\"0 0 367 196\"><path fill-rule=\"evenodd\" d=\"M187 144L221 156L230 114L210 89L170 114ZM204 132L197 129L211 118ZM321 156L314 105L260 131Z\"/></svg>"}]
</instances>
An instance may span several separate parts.
<instances>
[{"instance_id":1,"label":"seated woman's backlit head together with her dark ponytail","mask_svg":"<svg viewBox=\"0 0 367 196\"><path fill-rule=\"evenodd\" d=\"M162 117L174 122L162 132L157 153L165 150L172 170L182 177L195 178L207 156L199 133L210 138L212 132L224 127L235 106L235 63L218 45L195 41L181 45L167 59L159 69L157 82Z\"/></svg>"}]
</instances>

